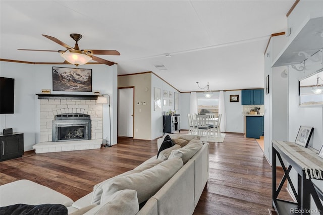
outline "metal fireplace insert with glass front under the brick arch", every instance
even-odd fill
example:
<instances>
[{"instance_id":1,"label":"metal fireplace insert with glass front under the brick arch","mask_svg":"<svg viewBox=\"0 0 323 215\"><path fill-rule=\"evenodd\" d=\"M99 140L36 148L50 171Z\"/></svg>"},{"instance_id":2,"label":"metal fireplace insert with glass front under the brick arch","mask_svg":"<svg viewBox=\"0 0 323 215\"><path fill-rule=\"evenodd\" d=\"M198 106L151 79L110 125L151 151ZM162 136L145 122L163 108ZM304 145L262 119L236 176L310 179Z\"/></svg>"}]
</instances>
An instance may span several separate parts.
<instances>
[{"instance_id":1,"label":"metal fireplace insert with glass front under the brick arch","mask_svg":"<svg viewBox=\"0 0 323 215\"><path fill-rule=\"evenodd\" d=\"M52 121L52 142L91 139L91 119L86 114L60 114Z\"/></svg>"}]
</instances>

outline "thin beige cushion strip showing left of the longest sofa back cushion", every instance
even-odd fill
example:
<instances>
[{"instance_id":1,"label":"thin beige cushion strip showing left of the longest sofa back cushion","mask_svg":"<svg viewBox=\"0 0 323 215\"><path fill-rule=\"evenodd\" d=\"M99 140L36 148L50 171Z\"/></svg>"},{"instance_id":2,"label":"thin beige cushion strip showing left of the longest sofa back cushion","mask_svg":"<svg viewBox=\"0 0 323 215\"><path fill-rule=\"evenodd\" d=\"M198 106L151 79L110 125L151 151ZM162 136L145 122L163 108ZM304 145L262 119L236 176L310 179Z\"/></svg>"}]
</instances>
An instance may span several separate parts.
<instances>
[{"instance_id":1,"label":"thin beige cushion strip showing left of the longest sofa back cushion","mask_svg":"<svg viewBox=\"0 0 323 215\"><path fill-rule=\"evenodd\" d=\"M149 162L149 163L142 164L142 165L136 167L133 170L130 170L128 172L125 172L125 173L120 174L118 176L115 176L113 178L106 179L105 181L102 181L101 183L98 183L98 184L94 185L94 187L93 187L93 196L92 196L92 202L91 202L91 204L100 204L101 195L102 195L102 186L103 186L104 183L107 183L110 180L115 179L117 177L122 177L122 176L126 176L126 175L133 174L133 173L140 173L140 172L142 172L144 170L147 170L147 169L149 169L151 167L156 166L157 164L159 164L159 163L161 163L163 161L164 160L161 160L161 159L151 160L151 162Z\"/></svg>"}]
</instances>

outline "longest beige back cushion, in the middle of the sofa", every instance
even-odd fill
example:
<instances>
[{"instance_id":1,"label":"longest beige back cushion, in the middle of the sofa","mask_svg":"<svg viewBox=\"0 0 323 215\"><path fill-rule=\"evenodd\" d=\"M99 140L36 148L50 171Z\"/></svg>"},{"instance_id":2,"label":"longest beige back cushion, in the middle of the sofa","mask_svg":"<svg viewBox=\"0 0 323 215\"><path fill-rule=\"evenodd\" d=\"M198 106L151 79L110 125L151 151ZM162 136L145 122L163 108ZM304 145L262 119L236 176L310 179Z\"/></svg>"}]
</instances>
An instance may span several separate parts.
<instances>
[{"instance_id":1,"label":"longest beige back cushion, in the middle of the sofa","mask_svg":"<svg viewBox=\"0 0 323 215\"><path fill-rule=\"evenodd\" d=\"M118 177L104 183L101 203L115 192L124 189L136 190L138 201L142 203L163 187L182 166L182 159L168 159L141 173Z\"/></svg>"}]
</instances>

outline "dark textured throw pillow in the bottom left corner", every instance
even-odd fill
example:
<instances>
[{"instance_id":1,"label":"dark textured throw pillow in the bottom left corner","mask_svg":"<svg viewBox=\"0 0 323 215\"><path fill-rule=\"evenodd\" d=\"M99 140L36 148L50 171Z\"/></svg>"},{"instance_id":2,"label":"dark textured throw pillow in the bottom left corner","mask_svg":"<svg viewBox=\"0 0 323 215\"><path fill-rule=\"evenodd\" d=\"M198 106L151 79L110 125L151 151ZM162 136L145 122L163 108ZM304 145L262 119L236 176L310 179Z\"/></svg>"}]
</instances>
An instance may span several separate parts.
<instances>
[{"instance_id":1,"label":"dark textured throw pillow in the bottom left corner","mask_svg":"<svg viewBox=\"0 0 323 215\"><path fill-rule=\"evenodd\" d=\"M14 204L5 207L0 207L1 215L67 215L67 207L63 204Z\"/></svg>"}]
</instances>

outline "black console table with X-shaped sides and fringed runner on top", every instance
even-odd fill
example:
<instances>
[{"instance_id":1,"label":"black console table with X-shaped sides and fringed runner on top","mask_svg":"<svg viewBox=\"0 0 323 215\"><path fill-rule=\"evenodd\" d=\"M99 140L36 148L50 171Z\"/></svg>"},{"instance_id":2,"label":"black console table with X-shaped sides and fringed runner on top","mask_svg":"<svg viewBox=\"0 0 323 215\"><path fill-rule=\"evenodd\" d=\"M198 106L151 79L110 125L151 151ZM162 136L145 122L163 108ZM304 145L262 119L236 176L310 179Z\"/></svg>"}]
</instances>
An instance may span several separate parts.
<instances>
[{"instance_id":1,"label":"black console table with X-shaped sides and fringed runner on top","mask_svg":"<svg viewBox=\"0 0 323 215\"><path fill-rule=\"evenodd\" d=\"M276 187L277 158L285 173L278 187ZM285 167L282 158L288 162L288 168ZM273 141L273 207L278 214L310 214L311 196L318 213L323 214L322 203L311 181L311 179L323 180L322 167L323 159L317 156L317 152L314 150L294 142ZM297 191L289 176L292 168L298 174ZM278 199L278 194L286 180L288 180L297 202Z\"/></svg>"}]
</instances>

